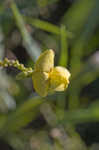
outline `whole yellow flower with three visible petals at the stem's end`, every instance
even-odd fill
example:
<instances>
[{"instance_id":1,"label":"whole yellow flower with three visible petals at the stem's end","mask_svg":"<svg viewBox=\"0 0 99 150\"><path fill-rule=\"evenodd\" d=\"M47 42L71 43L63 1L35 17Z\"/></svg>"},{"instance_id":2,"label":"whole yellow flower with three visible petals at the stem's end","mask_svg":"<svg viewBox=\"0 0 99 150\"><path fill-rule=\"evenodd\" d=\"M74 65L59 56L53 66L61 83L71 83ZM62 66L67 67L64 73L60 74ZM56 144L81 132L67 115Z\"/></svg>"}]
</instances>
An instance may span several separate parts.
<instances>
[{"instance_id":1,"label":"whole yellow flower with three visible petals at the stem's end","mask_svg":"<svg viewBox=\"0 0 99 150\"><path fill-rule=\"evenodd\" d=\"M69 84L70 72L64 67L54 67L54 51L46 50L38 58L32 75L36 92L45 97L55 91L64 91Z\"/></svg>"}]
</instances>

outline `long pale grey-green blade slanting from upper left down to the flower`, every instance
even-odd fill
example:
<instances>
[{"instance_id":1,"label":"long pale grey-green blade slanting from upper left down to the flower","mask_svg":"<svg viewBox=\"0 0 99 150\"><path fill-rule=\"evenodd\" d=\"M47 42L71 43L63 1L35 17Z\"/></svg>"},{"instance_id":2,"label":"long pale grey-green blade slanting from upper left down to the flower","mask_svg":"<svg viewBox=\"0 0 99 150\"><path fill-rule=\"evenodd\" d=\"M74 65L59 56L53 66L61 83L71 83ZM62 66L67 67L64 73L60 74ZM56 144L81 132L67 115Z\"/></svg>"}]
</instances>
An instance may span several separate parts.
<instances>
[{"instance_id":1,"label":"long pale grey-green blade slanting from upper left down to the flower","mask_svg":"<svg viewBox=\"0 0 99 150\"><path fill-rule=\"evenodd\" d=\"M16 21L16 25L19 28L22 38L24 40L24 46L26 47L26 50L29 53L29 55L31 56L31 58L35 61L36 58L40 55L40 48L36 44L36 42L32 39L29 32L27 31L23 17L20 14L14 1L11 1L10 7L13 12L13 16Z\"/></svg>"}]
</instances>

